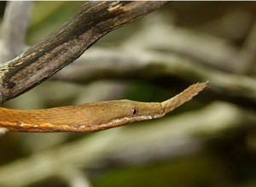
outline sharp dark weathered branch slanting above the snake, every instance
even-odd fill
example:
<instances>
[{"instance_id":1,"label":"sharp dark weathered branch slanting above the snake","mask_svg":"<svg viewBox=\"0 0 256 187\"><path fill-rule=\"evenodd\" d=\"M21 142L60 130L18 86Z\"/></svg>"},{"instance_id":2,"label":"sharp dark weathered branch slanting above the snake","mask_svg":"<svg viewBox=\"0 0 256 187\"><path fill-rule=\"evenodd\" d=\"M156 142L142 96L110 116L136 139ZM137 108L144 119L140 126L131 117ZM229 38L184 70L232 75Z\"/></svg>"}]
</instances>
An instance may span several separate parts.
<instances>
[{"instance_id":1,"label":"sharp dark weathered branch slanting above the snake","mask_svg":"<svg viewBox=\"0 0 256 187\"><path fill-rule=\"evenodd\" d=\"M0 68L0 102L14 98L78 59L109 31L166 2L89 2L42 42Z\"/></svg>"}]
</instances>

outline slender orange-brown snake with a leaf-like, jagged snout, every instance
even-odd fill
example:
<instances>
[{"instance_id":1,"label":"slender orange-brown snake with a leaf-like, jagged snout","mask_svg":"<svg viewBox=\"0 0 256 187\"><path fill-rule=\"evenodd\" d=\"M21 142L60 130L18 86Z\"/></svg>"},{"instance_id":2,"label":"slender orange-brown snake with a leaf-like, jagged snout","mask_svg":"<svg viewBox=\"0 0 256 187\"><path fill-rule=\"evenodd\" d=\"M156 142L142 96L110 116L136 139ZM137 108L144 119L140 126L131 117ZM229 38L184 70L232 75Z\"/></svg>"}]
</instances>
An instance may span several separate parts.
<instances>
[{"instance_id":1,"label":"slender orange-brown snake with a leaf-like, jagged snout","mask_svg":"<svg viewBox=\"0 0 256 187\"><path fill-rule=\"evenodd\" d=\"M195 83L161 103L123 99L31 111L0 107L0 127L19 132L95 132L165 116L206 86L207 82Z\"/></svg>"}]
</instances>

